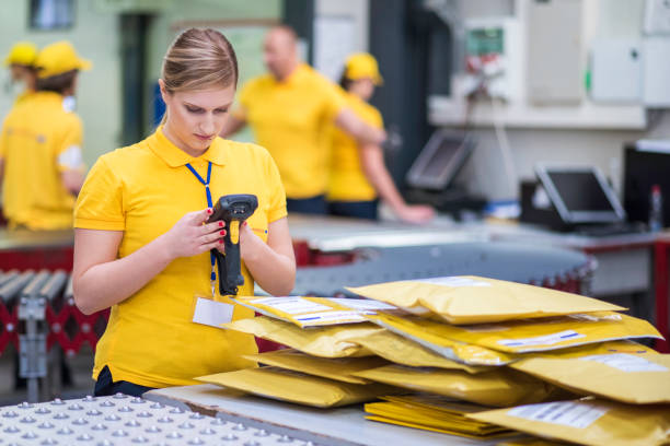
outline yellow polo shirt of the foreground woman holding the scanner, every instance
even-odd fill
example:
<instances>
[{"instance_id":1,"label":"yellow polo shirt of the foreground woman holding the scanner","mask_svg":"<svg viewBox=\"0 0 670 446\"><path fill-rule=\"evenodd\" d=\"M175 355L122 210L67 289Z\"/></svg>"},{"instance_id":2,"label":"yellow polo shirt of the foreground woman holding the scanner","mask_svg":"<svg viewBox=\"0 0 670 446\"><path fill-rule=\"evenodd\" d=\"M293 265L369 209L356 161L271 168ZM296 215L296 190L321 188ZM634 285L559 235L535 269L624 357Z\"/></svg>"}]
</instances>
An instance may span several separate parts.
<instances>
[{"instance_id":1,"label":"yellow polo shirt of the foreground woman holding the scanner","mask_svg":"<svg viewBox=\"0 0 670 446\"><path fill-rule=\"evenodd\" d=\"M286 216L286 197L267 151L258 145L217 138L193 159L159 129L146 140L107 153L95 163L79 195L74 227L123 231L123 258L168 232L185 213L207 208L203 178L211 161L213 200L229 193L253 193L258 208L247 220L267 240L269 223ZM241 357L256 352L254 337L192 321L195 295L210 296L209 253L178 258L132 296L112 307L97 343L93 378L107 365L114 380L149 387L197 384L193 378L254 366ZM253 295L254 282L242 263L240 294ZM232 304L230 298L217 300ZM235 305L233 319L254 312Z\"/></svg>"}]
</instances>

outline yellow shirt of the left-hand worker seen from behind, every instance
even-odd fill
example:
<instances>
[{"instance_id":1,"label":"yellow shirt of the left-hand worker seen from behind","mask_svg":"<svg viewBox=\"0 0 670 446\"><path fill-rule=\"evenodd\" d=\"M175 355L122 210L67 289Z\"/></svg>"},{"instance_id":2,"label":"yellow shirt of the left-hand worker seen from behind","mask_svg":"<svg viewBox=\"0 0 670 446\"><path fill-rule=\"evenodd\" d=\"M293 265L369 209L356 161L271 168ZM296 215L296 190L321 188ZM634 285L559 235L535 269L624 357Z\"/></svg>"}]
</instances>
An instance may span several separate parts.
<instances>
[{"instance_id":1,"label":"yellow shirt of the left-hand worker seen from behind","mask_svg":"<svg viewBox=\"0 0 670 446\"><path fill-rule=\"evenodd\" d=\"M60 174L83 169L82 124L53 92L25 96L7 116L0 134L4 162L2 210L10 227L72 227L74 197Z\"/></svg>"}]
</instances>

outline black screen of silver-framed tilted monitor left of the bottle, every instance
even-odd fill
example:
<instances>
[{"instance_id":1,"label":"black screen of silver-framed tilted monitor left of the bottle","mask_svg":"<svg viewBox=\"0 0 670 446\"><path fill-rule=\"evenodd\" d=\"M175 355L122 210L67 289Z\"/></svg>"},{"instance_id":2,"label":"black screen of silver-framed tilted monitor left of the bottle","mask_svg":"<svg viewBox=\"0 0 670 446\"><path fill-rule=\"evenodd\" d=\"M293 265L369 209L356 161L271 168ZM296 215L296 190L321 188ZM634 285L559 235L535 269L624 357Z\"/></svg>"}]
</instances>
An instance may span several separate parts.
<instances>
[{"instance_id":1,"label":"black screen of silver-framed tilted monitor left of the bottle","mask_svg":"<svg viewBox=\"0 0 670 446\"><path fill-rule=\"evenodd\" d=\"M614 211L592 172L547 172L569 212Z\"/></svg>"}]
</instances>

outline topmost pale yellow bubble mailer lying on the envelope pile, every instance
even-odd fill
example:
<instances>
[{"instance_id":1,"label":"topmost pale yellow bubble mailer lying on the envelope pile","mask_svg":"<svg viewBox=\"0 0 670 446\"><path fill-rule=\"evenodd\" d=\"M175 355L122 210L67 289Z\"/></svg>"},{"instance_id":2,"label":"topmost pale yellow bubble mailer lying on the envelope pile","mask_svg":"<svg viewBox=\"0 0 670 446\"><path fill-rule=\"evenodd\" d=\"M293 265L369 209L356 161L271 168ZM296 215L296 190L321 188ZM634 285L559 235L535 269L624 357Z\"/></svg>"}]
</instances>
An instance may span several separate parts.
<instances>
[{"instance_id":1,"label":"topmost pale yellow bubble mailer lying on the envelope pile","mask_svg":"<svg viewBox=\"0 0 670 446\"><path fill-rule=\"evenodd\" d=\"M626 309L563 291L475 275L388 282L347 290L413 313L435 313L458 325Z\"/></svg>"}]
</instances>

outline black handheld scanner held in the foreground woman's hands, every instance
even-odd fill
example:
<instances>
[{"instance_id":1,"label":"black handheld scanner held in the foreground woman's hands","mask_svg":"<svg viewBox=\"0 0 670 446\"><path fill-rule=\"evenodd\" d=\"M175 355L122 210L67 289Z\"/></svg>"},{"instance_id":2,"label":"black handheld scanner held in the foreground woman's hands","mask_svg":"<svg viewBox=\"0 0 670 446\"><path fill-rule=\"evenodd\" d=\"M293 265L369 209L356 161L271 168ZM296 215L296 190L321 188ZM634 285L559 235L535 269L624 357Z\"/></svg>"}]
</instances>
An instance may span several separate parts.
<instances>
[{"instance_id":1,"label":"black handheld scanner held in the foreground woman's hands","mask_svg":"<svg viewBox=\"0 0 670 446\"><path fill-rule=\"evenodd\" d=\"M226 254L218 249L211 251L219 266L219 293L236 295L238 286L244 284L240 258L240 225L249 219L258 207L256 196L247 193L228 195L219 198L207 223L222 220L226 222L223 246Z\"/></svg>"}]
</instances>

